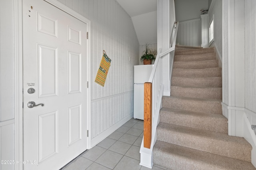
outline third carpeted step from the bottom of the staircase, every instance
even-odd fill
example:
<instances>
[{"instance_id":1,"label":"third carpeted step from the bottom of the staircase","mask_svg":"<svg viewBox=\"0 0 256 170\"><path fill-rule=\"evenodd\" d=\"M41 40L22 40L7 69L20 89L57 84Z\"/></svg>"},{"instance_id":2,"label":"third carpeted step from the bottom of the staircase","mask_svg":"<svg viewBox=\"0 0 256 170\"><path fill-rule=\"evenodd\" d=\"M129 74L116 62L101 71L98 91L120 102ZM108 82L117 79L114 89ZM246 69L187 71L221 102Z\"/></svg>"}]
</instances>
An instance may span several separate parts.
<instances>
[{"instance_id":1,"label":"third carpeted step from the bottom of the staircase","mask_svg":"<svg viewBox=\"0 0 256 170\"><path fill-rule=\"evenodd\" d=\"M219 133L228 133L227 121L228 119L221 114L170 109L165 107L160 110L160 122Z\"/></svg>"}]
</instances>

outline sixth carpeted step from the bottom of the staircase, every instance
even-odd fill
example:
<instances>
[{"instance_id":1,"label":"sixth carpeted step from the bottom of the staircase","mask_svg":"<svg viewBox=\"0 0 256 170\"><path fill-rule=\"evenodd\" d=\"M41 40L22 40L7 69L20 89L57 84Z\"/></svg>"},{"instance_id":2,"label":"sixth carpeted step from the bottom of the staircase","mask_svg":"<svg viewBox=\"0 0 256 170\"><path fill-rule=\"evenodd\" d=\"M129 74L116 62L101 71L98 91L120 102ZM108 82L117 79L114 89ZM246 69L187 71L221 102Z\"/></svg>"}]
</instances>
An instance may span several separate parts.
<instances>
[{"instance_id":1,"label":"sixth carpeted step from the bottom of the staircase","mask_svg":"<svg viewBox=\"0 0 256 170\"><path fill-rule=\"evenodd\" d=\"M172 86L222 87L222 77L172 77Z\"/></svg>"}]
</instances>

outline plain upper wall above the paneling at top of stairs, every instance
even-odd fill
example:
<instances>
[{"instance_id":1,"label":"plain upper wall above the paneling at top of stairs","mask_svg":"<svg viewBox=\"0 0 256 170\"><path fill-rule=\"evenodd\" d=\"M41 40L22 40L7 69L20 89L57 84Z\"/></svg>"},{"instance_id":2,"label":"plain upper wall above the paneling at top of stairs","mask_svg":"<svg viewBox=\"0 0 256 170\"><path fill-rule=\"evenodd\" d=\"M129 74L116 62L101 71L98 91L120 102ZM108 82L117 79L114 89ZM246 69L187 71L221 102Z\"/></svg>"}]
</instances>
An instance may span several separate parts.
<instances>
[{"instance_id":1,"label":"plain upper wall above the paneling at top of stairs","mask_svg":"<svg viewBox=\"0 0 256 170\"><path fill-rule=\"evenodd\" d=\"M175 0L176 21L200 18L200 10L208 10L208 0Z\"/></svg>"}]
</instances>

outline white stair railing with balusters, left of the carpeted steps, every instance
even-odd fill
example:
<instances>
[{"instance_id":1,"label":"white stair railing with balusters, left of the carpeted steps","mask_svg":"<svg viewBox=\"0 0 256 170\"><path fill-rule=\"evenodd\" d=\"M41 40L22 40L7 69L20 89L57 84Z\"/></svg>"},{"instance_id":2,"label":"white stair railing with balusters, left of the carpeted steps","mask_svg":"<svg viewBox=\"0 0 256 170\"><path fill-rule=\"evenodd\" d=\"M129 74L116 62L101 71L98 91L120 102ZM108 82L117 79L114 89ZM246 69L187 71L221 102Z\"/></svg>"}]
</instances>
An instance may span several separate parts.
<instances>
[{"instance_id":1,"label":"white stair railing with balusters, left of the carpeted steps","mask_svg":"<svg viewBox=\"0 0 256 170\"><path fill-rule=\"evenodd\" d=\"M161 109L160 107L162 103L162 96L164 93L164 84L162 83L162 56L165 56L166 54L169 54L170 52L175 50L175 44L176 44L175 41L176 41L177 31L178 31L178 22L174 24L176 25L176 29L174 31L174 39L172 42L174 46L167 49L164 52L162 52L161 48L158 49L156 61L154 63L152 72L150 74L150 78L148 80L148 83L152 84L152 88L150 89L151 90L150 92L152 92L152 105L151 105L152 109L145 110L145 106L144 106L144 116L150 115L150 117L144 117L144 120L152 119L152 122L151 122L152 124L146 125L146 126L144 125L144 129L147 128L146 131L144 131L144 137L146 136L145 140L147 140L147 142L145 143L145 147L144 147L144 137L143 137L142 144L140 147L140 165L146 166L148 168L152 168L153 166L152 154L153 154L154 144L156 143L156 127L159 123L159 111ZM172 53L171 55L172 59L173 57L174 57L174 53ZM146 102L146 104L148 105L148 101L145 101L146 98L148 97L144 96L144 102ZM150 111L150 112L152 111L152 114L145 113L146 111ZM146 134L148 131L148 127L150 127L152 134ZM150 142L148 142L149 137L151 139ZM148 143L150 143L150 147Z\"/></svg>"}]
</instances>

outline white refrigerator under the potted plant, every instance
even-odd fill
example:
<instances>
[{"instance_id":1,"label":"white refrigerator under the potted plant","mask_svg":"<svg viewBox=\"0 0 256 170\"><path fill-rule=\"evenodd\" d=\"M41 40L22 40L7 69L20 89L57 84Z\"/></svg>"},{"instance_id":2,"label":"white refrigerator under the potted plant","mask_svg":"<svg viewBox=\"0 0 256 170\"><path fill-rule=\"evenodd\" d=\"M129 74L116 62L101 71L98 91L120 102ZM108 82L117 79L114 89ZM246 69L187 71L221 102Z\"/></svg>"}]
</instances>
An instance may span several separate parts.
<instances>
[{"instance_id":1,"label":"white refrigerator under the potted plant","mask_svg":"<svg viewBox=\"0 0 256 170\"><path fill-rule=\"evenodd\" d=\"M153 66L134 66L134 119L144 120L144 82L148 82Z\"/></svg>"}]
</instances>

